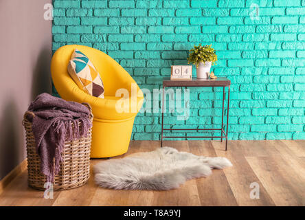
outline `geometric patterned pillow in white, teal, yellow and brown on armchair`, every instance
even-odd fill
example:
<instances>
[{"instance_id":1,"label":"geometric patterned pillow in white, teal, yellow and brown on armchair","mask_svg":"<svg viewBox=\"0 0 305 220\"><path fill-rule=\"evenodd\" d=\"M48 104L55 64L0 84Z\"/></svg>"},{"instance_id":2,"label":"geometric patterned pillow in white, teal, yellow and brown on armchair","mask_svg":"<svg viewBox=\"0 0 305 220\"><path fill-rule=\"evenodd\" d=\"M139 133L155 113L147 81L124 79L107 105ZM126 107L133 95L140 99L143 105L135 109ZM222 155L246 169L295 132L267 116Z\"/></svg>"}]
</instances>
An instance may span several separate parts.
<instances>
[{"instance_id":1,"label":"geometric patterned pillow in white, teal, yellow and brown on armchair","mask_svg":"<svg viewBox=\"0 0 305 220\"><path fill-rule=\"evenodd\" d=\"M87 94L104 98L104 85L100 74L89 61L89 58L79 50L74 50L69 61L68 72L74 82Z\"/></svg>"}]
</instances>

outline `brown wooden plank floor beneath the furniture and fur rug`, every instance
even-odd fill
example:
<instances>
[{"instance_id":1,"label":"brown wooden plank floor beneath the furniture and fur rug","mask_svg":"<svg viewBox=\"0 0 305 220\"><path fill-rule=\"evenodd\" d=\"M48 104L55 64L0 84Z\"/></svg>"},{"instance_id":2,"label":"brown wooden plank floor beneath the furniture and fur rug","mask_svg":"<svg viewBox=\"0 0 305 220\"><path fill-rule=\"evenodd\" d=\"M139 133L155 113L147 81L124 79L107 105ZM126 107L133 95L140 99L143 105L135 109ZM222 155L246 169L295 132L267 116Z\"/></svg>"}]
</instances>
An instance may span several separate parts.
<instances>
[{"instance_id":1,"label":"brown wooden plank floor beneath the furniture and fur rug","mask_svg":"<svg viewBox=\"0 0 305 220\"><path fill-rule=\"evenodd\" d=\"M192 179L169 191L109 190L89 183L80 188L43 192L27 186L27 172L21 173L3 190L0 206L304 206L305 140L275 141L168 141L179 151L196 155L227 157L232 167L213 170L210 177ZM133 141L126 155L152 151L157 141ZM126 156L124 155L124 156ZM91 165L103 162L92 159ZM250 184L260 186L260 199L251 199Z\"/></svg>"}]
</instances>

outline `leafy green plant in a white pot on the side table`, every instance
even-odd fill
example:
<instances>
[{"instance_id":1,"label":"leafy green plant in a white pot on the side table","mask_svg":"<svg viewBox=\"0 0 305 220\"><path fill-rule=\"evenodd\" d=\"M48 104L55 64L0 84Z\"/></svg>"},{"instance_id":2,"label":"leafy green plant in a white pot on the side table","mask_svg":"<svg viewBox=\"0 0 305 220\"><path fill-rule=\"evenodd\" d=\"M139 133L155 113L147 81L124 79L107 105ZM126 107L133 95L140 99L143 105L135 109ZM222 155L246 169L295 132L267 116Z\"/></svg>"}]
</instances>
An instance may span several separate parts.
<instances>
[{"instance_id":1,"label":"leafy green plant in a white pot on the side table","mask_svg":"<svg viewBox=\"0 0 305 220\"><path fill-rule=\"evenodd\" d=\"M197 78L209 78L212 65L216 65L217 55L211 45L194 45L188 56L188 63L196 65Z\"/></svg>"}]
</instances>

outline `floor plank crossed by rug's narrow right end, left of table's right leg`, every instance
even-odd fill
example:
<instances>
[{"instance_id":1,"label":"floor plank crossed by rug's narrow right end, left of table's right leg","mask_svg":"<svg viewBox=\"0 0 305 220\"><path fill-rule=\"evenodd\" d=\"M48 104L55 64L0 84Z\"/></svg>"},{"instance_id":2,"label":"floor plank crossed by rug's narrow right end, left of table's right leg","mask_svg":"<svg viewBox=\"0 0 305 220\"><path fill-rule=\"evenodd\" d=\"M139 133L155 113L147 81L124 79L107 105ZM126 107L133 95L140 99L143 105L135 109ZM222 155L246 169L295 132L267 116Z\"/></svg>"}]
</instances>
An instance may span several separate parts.
<instances>
[{"instance_id":1,"label":"floor plank crossed by rug's narrow right end, left of table's right leg","mask_svg":"<svg viewBox=\"0 0 305 220\"><path fill-rule=\"evenodd\" d=\"M189 142L190 153L216 157L212 142ZM237 206L238 203L229 186L223 170L213 170L212 175L206 178L196 179L199 197L202 206Z\"/></svg>"}]
</instances>

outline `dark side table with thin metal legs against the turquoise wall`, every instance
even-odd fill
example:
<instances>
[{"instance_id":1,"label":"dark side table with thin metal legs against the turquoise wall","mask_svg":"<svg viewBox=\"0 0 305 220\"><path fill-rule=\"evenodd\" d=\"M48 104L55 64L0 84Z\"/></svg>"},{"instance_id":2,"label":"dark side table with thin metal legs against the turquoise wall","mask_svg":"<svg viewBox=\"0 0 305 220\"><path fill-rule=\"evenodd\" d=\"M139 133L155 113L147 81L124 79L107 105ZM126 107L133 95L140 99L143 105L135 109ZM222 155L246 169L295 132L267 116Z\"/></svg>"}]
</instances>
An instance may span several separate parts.
<instances>
[{"instance_id":1,"label":"dark side table with thin metal legs against the turquoise wall","mask_svg":"<svg viewBox=\"0 0 305 220\"><path fill-rule=\"evenodd\" d=\"M163 94L162 94L162 124L161 124L161 146L163 146L163 138L225 138L225 151L227 151L227 133L229 125L229 98L230 98L231 81L225 77L218 77L216 79L192 78L192 80L170 80L170 78L163 78ZM221 129L163 129L164 119L164 89L166 87L223 87L223 113L221 116ZM227 96L227 126L223 127L223 116L225 109L225 87L228 87ZM221 136L163 136L163 131L221 131Z\"/></svg>"}]
</instances>

